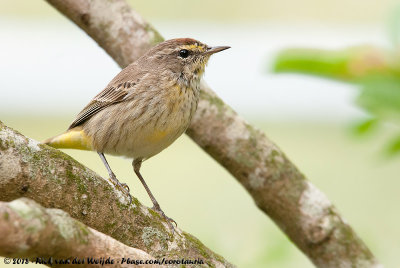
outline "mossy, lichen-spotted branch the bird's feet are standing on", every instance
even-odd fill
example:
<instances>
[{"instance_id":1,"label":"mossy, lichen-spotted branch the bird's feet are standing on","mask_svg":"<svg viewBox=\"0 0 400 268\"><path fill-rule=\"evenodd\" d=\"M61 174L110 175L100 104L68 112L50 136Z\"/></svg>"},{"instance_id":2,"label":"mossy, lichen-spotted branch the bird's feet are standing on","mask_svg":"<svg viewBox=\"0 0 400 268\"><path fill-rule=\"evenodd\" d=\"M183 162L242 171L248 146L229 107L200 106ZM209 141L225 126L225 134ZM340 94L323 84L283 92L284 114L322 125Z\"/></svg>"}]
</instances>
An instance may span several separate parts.
<instances>
[{"instance_id":1,"label":"mossy, lichen-spotted branch the bird's feet are standing on","mask_svg":"<svg viewBox=\"0 0 400 268\"><path fill-rule=\"evenodd\" d=\"M155 258L196 260L232 267L192 235L174 236L161 216L128 197L70 156L0 122L0 200L33 199ZM1 236L0 236L1 237Z\"/></svg>"}]
</instances>

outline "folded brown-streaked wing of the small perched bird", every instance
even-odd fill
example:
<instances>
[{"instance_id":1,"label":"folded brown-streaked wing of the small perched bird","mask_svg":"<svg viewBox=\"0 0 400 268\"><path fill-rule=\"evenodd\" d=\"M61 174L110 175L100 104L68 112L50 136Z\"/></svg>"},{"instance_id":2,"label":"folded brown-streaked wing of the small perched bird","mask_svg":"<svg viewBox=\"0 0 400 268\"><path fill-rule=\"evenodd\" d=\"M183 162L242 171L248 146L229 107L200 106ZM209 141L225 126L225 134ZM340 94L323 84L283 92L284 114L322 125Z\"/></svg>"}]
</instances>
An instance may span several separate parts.
<instances>
[{"instance_id":1,"label":"folded brown-streaked wing of the small perched bird","mask_svg":"<svg viewBox=\"0 0 400 268\"><path fill-rule=\"evenodd\" d=\"M103 91L97 94L85 108L83 108L68 129L81 125L104 108L123 101L135 85L135 82L126 81L119 83L118 85L107 86Z\"/></svg>"}]
</instances>

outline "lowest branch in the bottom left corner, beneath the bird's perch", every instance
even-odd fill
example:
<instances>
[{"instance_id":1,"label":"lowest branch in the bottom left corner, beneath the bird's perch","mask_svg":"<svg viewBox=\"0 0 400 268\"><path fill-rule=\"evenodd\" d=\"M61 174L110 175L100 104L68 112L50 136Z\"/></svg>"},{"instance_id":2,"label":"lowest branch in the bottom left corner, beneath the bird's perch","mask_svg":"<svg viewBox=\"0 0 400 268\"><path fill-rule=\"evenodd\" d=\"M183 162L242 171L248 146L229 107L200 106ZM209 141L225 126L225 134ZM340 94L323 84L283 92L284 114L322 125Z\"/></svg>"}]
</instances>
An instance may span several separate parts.
<instances>
[{"instance_id":1,"label":"lowest branch in the bottom left corner, beneath the bird's perch","mask_svg":"<svg viewBox=\"0 0 400 268\"><path fill-rule=\"evenodd\" d=\"M128 258L142 260L143 264L154 260L146 252L87 227L62 210L45 209L27 198L0 202L0 237L1 256L27 258L47 266L75 267L79 261L85 267L99 267L96 260L110 257L107 267L130 267Z\"/></svg>"}]
</instances>

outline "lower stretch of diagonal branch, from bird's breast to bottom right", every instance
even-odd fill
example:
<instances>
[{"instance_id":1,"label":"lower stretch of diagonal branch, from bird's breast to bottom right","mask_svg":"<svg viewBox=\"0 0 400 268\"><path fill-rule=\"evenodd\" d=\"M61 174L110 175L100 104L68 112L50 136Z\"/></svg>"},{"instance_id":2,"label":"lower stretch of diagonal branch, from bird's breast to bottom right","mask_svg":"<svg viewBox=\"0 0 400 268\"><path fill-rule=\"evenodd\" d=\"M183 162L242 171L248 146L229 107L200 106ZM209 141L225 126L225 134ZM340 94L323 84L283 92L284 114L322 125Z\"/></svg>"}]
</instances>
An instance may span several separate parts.
<instances>
[{"instance_id":1,"label":"lower stretch of diagonal branch, from bird's breast to bottom right","mask_svg":"<svg viewBox=\"0 0 400 268\"><path fill-rule=\"evenodd\" d=\"M317 267L381 267L325 194L207 86L187 133Z\"/></svg>"}]
</instances>

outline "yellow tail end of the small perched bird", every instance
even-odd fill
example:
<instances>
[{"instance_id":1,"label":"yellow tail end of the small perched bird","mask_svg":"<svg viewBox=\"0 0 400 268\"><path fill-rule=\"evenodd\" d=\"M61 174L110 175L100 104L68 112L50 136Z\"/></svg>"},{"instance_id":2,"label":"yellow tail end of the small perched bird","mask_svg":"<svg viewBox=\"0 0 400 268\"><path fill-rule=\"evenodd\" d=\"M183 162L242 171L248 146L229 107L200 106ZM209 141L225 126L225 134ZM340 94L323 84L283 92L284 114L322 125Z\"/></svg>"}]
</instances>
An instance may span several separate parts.
<instances>
[{"instance_id":1,"label":"yellow tail end of the small perched bird","mask_svg":"<svg viewBox=\"0 0 400 268\"><path fill-rule=\"evenodd\" d=\"M93 150L92 139L86 135L81 127L69 129L58 136L44 140L42 143L59 149Z\"/></svg>"}]
</instances>

